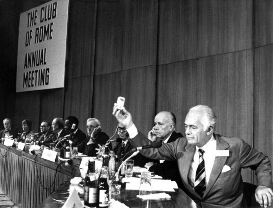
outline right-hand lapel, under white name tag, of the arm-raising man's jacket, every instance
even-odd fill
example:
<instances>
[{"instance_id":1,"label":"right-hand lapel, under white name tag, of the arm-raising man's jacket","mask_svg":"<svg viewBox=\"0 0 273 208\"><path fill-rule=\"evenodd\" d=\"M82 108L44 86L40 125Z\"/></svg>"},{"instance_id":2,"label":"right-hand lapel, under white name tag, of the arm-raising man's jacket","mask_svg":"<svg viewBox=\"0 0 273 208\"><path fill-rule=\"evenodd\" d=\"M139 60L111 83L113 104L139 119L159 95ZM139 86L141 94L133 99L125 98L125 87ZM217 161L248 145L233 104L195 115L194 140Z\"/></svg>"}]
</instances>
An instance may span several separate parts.
<instances>
[{"instance_id":1,"label":"right-hand lapel, under white name tag, of the arm-raising man's jacket","mask_svg":"<svg viewBox=\"0 0 273 208\"><path fill-rule=\"evenodd\" d=\"M214 135L214 137L216 139L216 150L225 150L229 148L229 144L221 139L218 135ZM215 183L216 179L218 179L218 176L220 175L227 158L228 157L215 157L212 171L209 177L209 183L207 184L206 191L204 192L203 197L206 196L206 194L210 191L213 184Z\"/></svg>"}]
</instances>

